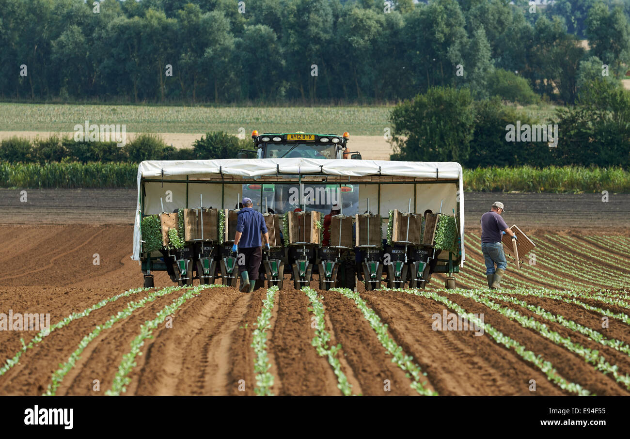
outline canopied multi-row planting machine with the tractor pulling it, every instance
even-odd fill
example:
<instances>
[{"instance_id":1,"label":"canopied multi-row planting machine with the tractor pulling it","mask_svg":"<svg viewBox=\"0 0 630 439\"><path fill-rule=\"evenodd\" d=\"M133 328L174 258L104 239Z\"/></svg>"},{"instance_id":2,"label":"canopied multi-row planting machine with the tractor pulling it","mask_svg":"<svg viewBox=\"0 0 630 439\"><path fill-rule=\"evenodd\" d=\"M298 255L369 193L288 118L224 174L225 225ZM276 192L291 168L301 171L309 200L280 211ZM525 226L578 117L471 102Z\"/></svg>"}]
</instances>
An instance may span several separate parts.
<instances>
[{"instance_id":1,"label":"canopied multi-row planting machine with the tractor pulling it","mask_svg":"<svg viewBox=\"0 0 630 439\"><path fill-rule=\"evenodd\" d=\"M423 288L432 273L445 273L446 287L455 287L465 259L459 164L357 160L347 135L254 134L256 159L241 152L238 159L140 163L133 258L146 286L164 270L180 285L198 279L236 287L239 206L228 200L243 195L264 212L270 237L257 287L265 280L286 287L290 277L299 289L315 275L321 290L354 289L357 278L367 290ZM151 218L159 226L145 226Z\"/></svg>"}]
</instances>

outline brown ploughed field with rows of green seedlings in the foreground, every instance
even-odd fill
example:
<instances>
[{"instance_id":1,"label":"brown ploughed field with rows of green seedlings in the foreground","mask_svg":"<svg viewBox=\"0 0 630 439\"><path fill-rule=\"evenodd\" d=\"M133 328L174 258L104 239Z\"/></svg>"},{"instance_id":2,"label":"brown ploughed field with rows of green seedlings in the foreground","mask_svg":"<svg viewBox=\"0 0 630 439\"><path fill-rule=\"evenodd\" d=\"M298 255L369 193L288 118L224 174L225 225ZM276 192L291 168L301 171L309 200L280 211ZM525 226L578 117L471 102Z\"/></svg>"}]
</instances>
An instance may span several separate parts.
<instances>
[{"instance_id":1,"label":"brown ploughed field with rows of green seedlings in the foreground","mask_svg":"<svg viewBox=\"0 0 630 439\"><path fill-rule=\"evenodd\" d=\"M139 288L128 225L4 232L0 310L50 326L0 331L2 395L630 394L625 231L537 229L504 290L484 288L470 228L456 290L434 275L425 290L253 294L164 272Z\"/></svg>"}]
</instances>

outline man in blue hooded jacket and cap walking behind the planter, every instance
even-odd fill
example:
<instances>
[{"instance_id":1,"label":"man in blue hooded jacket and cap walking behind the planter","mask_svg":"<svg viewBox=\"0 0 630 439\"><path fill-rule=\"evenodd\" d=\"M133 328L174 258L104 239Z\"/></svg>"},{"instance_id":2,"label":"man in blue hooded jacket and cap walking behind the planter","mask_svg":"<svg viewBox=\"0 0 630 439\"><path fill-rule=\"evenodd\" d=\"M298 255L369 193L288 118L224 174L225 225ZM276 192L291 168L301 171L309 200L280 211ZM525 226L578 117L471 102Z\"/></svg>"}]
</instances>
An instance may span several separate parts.
<instances>
[{"instance_id":1,"label":"man in blue hooded jacket and cap walking behind the planter","mask_svg":"<svg viewBox=\"0 0 630 439\"><path fill-rule=\"evenodd\" d=\"M239 210L236 219L233 252L239 252L238 271L241 275L241 292L253 292L260 263L263 261L260 233L265 236L265 250L269 251L269 233L263 214L253 210L251 198L243 198L244 208ZM242 256L241 256L242 255ZM243 258L243 259L241 259Z\"/></svg>"}]
</instances>

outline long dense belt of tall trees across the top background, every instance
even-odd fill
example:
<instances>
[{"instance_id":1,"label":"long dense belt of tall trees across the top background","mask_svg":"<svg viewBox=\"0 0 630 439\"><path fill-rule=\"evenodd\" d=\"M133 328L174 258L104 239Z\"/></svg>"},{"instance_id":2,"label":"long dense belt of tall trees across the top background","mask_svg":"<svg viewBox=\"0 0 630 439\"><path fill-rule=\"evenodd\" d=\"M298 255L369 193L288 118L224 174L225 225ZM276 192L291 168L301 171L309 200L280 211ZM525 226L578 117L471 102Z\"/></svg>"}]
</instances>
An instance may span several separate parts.
<instances>
[{"instance_id":1,"label":"long dense belt of tall trees across the top background","mask_svg":"<svg viewBox=\"0 0 630 439\"><path fill-rule=\"evenodd\" d=\"M630 0L0 0L0 98L398 101L435 86L574 103L630 64ZM588 38L588 47L581 42Z\"/></svg>"}]
</instances>

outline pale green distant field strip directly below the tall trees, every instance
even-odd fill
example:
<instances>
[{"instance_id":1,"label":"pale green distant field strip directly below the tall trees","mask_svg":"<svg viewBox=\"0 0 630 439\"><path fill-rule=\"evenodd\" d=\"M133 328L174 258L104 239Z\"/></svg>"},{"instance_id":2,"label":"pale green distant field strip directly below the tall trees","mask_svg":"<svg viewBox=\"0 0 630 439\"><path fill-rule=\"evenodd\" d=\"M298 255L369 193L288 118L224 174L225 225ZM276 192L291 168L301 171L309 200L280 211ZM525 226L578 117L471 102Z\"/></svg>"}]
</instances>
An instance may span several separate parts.
<instances>
[{"instance_id":1,"label":"pale green distant field strip directly below the tall trees","mask_svg":"<svg viewBox=\"0 0 630 439\"><path fill-rule=\"evenodd\" d=\"M120 123L127 132L239 134L321 132L383 135L391 107L186 107L0 103L0 131L71 132L84 123Z\"/></svg>"}]
</instances>

